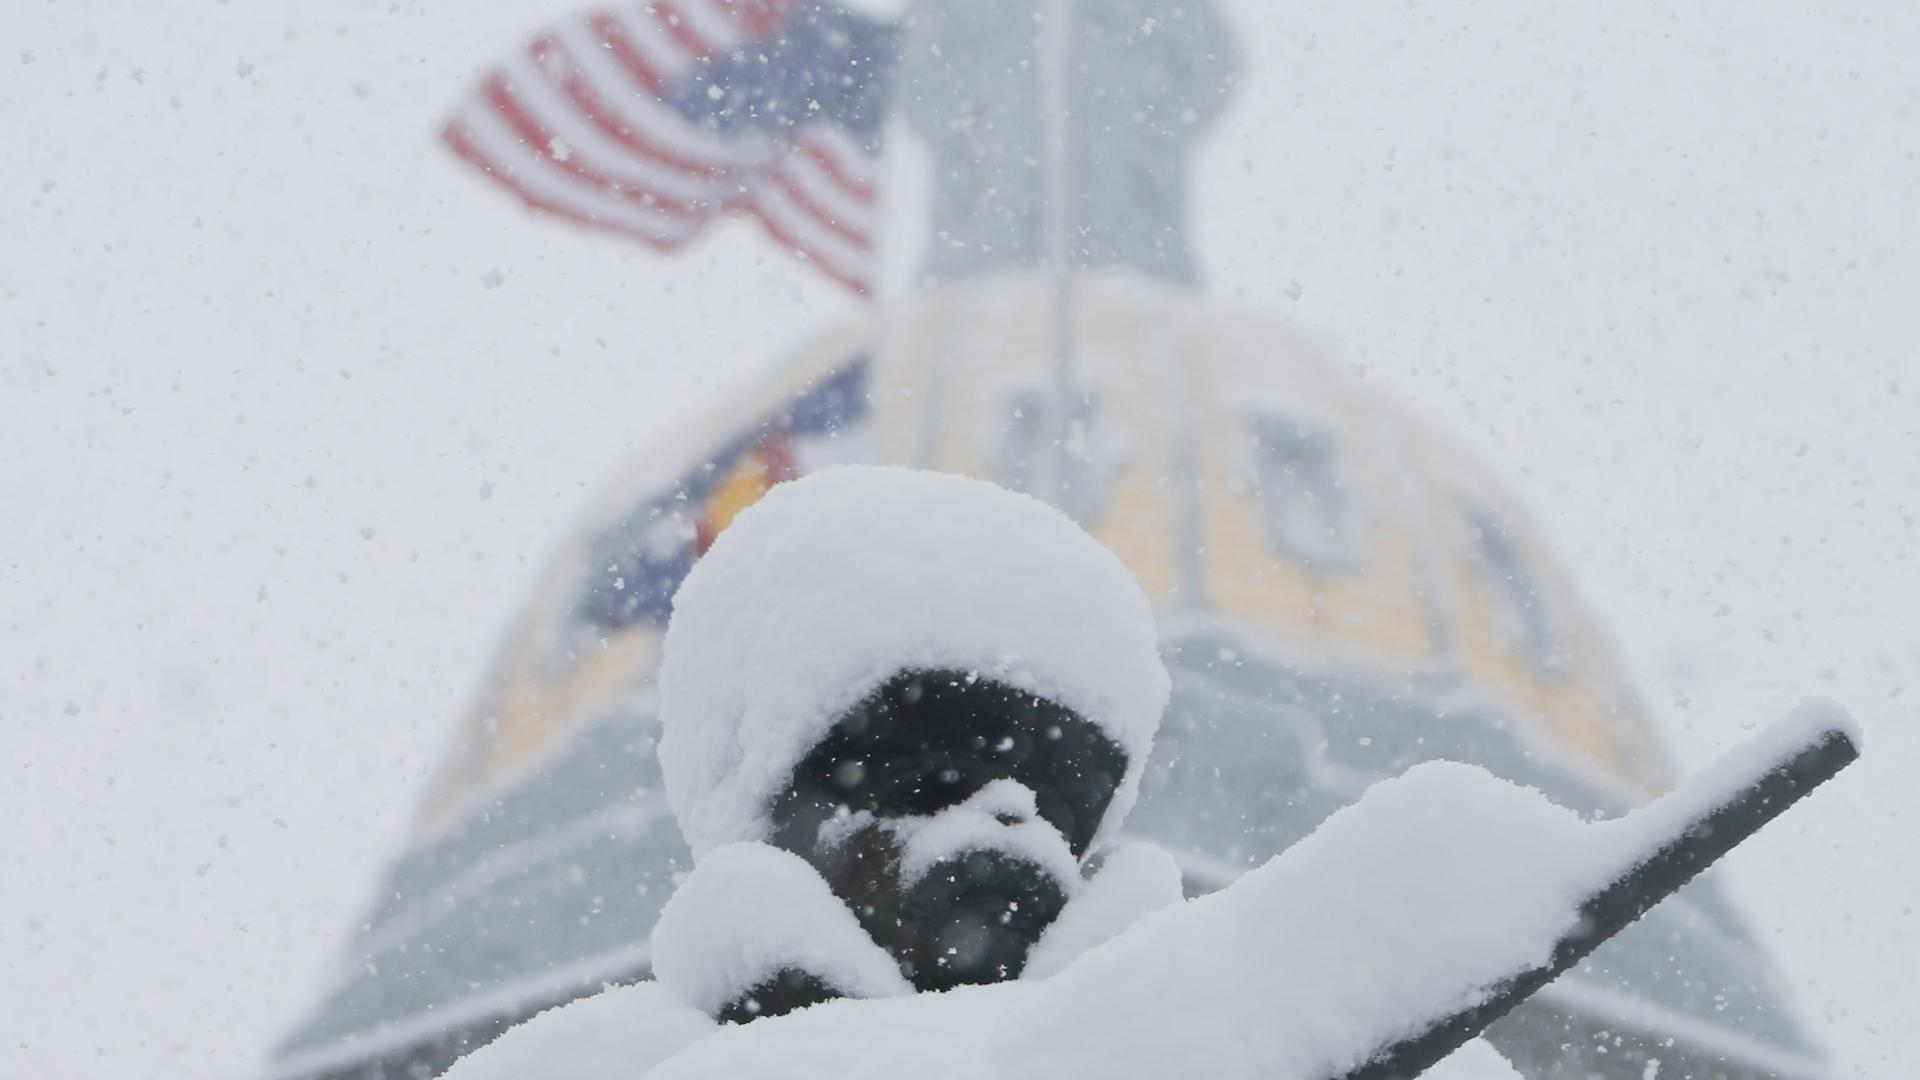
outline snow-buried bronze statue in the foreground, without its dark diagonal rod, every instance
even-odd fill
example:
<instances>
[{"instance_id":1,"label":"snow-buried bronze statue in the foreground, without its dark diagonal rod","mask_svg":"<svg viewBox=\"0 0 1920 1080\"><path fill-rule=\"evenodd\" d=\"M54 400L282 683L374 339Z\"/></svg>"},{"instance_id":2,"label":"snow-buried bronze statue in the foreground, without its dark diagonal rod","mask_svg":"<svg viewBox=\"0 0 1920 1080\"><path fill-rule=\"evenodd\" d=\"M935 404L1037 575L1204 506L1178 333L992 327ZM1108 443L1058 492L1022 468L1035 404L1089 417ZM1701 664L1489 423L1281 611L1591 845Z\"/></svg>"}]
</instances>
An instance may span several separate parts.
<instances>
[{"instance_id":1,"label":"snow-buried bronze statue in the foreground, without its dark diagonal rod","mask_svg":"<svg viewBox=\"0 0 1920 1080\"><path fill-rule=\"evenodd\" d=\"M1465 767L1183 901L1169 855L1116 844L1167 700L1148 601L1066 515L979 480L774 488L676 596L660 698L695 869L655 982L547 1011L451 1080L1311 1080L1432 1005L1421 965L1498 970L1567 915L1409 924L1509 890L1580 826L1500 782L1459 805L1461 773L1490 780ZM1496 857L1528 822L1530 851ZM1513 1072L1476 1042L1428 1076Z\"/></svg>"}]
</instances>

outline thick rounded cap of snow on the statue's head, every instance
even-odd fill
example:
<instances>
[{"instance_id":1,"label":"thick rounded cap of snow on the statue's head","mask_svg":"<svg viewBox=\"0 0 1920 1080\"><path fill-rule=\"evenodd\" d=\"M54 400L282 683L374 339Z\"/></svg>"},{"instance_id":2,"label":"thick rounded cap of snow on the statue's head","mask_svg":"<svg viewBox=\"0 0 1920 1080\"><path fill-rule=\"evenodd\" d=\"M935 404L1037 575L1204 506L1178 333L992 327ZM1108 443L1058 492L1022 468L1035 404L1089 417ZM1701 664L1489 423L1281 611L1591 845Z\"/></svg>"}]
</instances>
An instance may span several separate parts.
<instances>
[{"instance_id":1,"label":"thick rounded cap of snow on the statue's head","mask_svg":"<svg viewBox=\"0 0 1920 1080\"><path fill-rule=\"evenodd\" d=\"M1127 753L1112 840L1169 692L1139 582L1035 498L841 467L741 511L674 596L660 771L693 855L770 838L795 767L902 671L979 673L1106 732Z\"/></svg>"}]
</instances>

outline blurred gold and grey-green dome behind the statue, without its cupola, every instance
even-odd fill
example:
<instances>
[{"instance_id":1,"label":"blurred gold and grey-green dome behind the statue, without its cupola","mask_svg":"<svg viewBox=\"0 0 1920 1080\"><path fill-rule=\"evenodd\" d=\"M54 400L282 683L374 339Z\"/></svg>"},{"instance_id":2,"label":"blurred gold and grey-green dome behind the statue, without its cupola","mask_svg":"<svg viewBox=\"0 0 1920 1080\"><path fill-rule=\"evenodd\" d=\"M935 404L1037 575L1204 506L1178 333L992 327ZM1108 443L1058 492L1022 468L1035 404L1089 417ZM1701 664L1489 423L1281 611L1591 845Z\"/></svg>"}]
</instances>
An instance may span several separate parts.
<instances>
[{"instance_id":1,"label":"blurred gold and grey-green dome behind the statue, without its cupola","mask_svg":"<svg viewBox=\"0 0 1920 1080\"><path fill-rule=\"evenodd\" d=\"M432 1074L645 976L691 867L655 759L674 588L772 484L845 461L1027 490L1125 561L1173 676L1127 832L1173 851L1190 894L1427 759L1594 817L1672 778L1548 540L1446 438L1187 286L1087 269L1058 298L1037 271L972 277L780 357L618 473L507 636L280 1076ZM1651 1059L1826 1074L1711 874L1488 1036L1530 1078L1638 1078Z\"/></svg>"}]
</instances>

